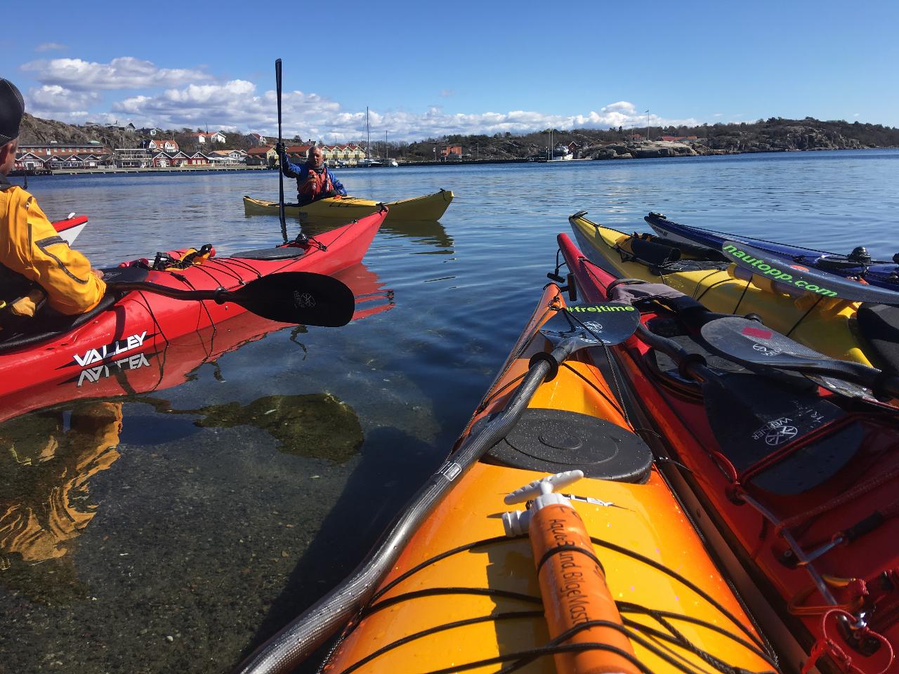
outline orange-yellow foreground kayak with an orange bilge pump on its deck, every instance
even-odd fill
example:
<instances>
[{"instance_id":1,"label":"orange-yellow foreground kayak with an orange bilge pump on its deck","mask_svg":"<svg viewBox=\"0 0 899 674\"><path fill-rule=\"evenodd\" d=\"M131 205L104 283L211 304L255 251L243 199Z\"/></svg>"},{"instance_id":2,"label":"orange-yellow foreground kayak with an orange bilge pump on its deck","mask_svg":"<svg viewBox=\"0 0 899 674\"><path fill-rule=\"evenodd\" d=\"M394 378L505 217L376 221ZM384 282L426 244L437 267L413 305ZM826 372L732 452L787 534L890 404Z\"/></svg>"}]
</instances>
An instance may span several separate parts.
<instances>
[{"instance_id":1,"label":"orange-yellow foreground kayak with an orange bilge pump on its deck","mask_svg":"<svg viewBox=\"0 0 899 674\"><path fill-rule=\"evenodd\" d=\"M578 314L599 332L613 318L588 311L603 310ZM334 629L338 607L352 619L328 674L778 669L601 374L606 351L591 341L565 352L566 315L548 285L454 453L378 552L241 674L293 670ZM540 332L549 320L561 335ZM531 502L535 489L565 502ZM386 575L371 581L378 564Z\"/></svg>"}]
</instances>

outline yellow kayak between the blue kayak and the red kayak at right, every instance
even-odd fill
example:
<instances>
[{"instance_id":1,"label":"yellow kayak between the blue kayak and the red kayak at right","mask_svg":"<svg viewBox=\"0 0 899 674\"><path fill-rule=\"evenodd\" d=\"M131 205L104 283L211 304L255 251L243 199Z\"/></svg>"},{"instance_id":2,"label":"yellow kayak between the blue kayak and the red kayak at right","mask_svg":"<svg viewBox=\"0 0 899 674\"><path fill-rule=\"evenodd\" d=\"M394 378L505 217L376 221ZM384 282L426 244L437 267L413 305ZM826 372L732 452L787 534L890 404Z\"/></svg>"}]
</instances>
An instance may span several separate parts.
<instances>
[{"instance_id":1,"label":"yellow kayak between the blue kayak and the red kayak at right","mask_svg":"<svg viewBox=\"0 0 899 674\"><path fill-rule=\"evenodd\" d=\"M735 264L702 259L684 250L669 255L673 249L667 240L628 235L584 215L585 211L568 218L581 250L619 278L664 283L712 311L757 314L768 327L832 358L865 365L872 365L873 359L878 364L856 324L859 302L787 292L772 279L744 276Z\"/></svg>"}]
</instances>

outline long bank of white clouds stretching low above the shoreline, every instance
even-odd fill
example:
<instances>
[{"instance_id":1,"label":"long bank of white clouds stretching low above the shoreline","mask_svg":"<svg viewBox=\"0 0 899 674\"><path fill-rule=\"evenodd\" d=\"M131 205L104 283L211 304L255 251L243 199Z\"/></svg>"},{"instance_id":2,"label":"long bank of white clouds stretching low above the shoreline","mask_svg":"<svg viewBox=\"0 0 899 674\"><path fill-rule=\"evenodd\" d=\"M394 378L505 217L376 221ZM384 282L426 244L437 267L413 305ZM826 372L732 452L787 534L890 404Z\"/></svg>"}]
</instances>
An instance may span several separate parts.
<instances>
[{"instance_id":1,"label":"long bank of white clouds stretching low above the shoreline","mask_svg":"<svg viewBox=\"0 0 899 674\"><path fill-rule=\"evenodd\" d=\"M40 86L31 89L30 111L40 117L76 120L91 110L91 119L132 121L136 126L163 129L201 127L241 129L267 136L277 133L273 91L257 92L246 80L216 81L201 68L160 68L138 58L113 58L93 63L80 58L32 61L23 69L36 73ZM102 106L102 91L136 89L138 93ZM455 92L441 91L442 98ZM316 93L285 92L282 96L284 136L327 138L346 142L365 136L365 111L344 111L340 103ZM608 129L647 124L696 124L637 111L632 102L611 102L599 111L551 115L539 111L447 112L441 106L426 111L371 111L372 131L387 131L395 140L418 140L449 134L529 133L548 128Z\"/></svg>"}]
</instances>

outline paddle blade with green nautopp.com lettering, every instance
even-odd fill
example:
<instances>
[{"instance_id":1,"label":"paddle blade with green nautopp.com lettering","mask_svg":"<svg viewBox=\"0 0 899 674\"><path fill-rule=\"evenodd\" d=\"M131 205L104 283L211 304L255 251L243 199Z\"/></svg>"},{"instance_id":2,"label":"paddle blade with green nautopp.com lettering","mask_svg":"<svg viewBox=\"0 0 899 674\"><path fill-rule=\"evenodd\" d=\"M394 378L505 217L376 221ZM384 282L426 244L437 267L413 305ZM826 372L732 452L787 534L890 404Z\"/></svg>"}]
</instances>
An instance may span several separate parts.
<instances>
[{"instance_id":1,"label":"paddle blade with green nautopp.com lettering","mask_svg":"<svg viewBox=\"0 0 899 674\"><path fill-rule=\"evenodd\" d=\"M735 241L721 244L721 252L728 260L736 262L745 270L760 276L821 297L839 297L852 302L876 302L879 304L899 304L899 293L886 288L877 288L865 283L845 279L837 274L810 269L797 262L778 259L767 251Z\"/></svg>"}]
</instances>

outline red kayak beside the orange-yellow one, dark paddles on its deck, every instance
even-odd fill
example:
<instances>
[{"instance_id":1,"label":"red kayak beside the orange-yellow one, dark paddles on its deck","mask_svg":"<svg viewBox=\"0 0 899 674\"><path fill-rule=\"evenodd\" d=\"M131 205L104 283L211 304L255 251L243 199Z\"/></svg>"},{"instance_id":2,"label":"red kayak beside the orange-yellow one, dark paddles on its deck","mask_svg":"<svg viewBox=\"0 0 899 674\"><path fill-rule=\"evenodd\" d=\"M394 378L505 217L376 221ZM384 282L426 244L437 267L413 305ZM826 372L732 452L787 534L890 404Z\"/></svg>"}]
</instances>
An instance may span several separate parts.
<instances>
[{"instance_id":1,"label":"red kayak beside the orange-yellow one, dark paddles on its deck","mask_svg":"<svg viewBox=\"0 0 899 674\"><path fill-rule=\"evenodd\" d=\"M896 408L859 386L738 365L708 326L742 325L734 340L772 331L616 279L567 235L558 244L583 300L640 309L637 333L610 348L621 393L786 669L899 671Z\"/></svg>"}]
</instances>

